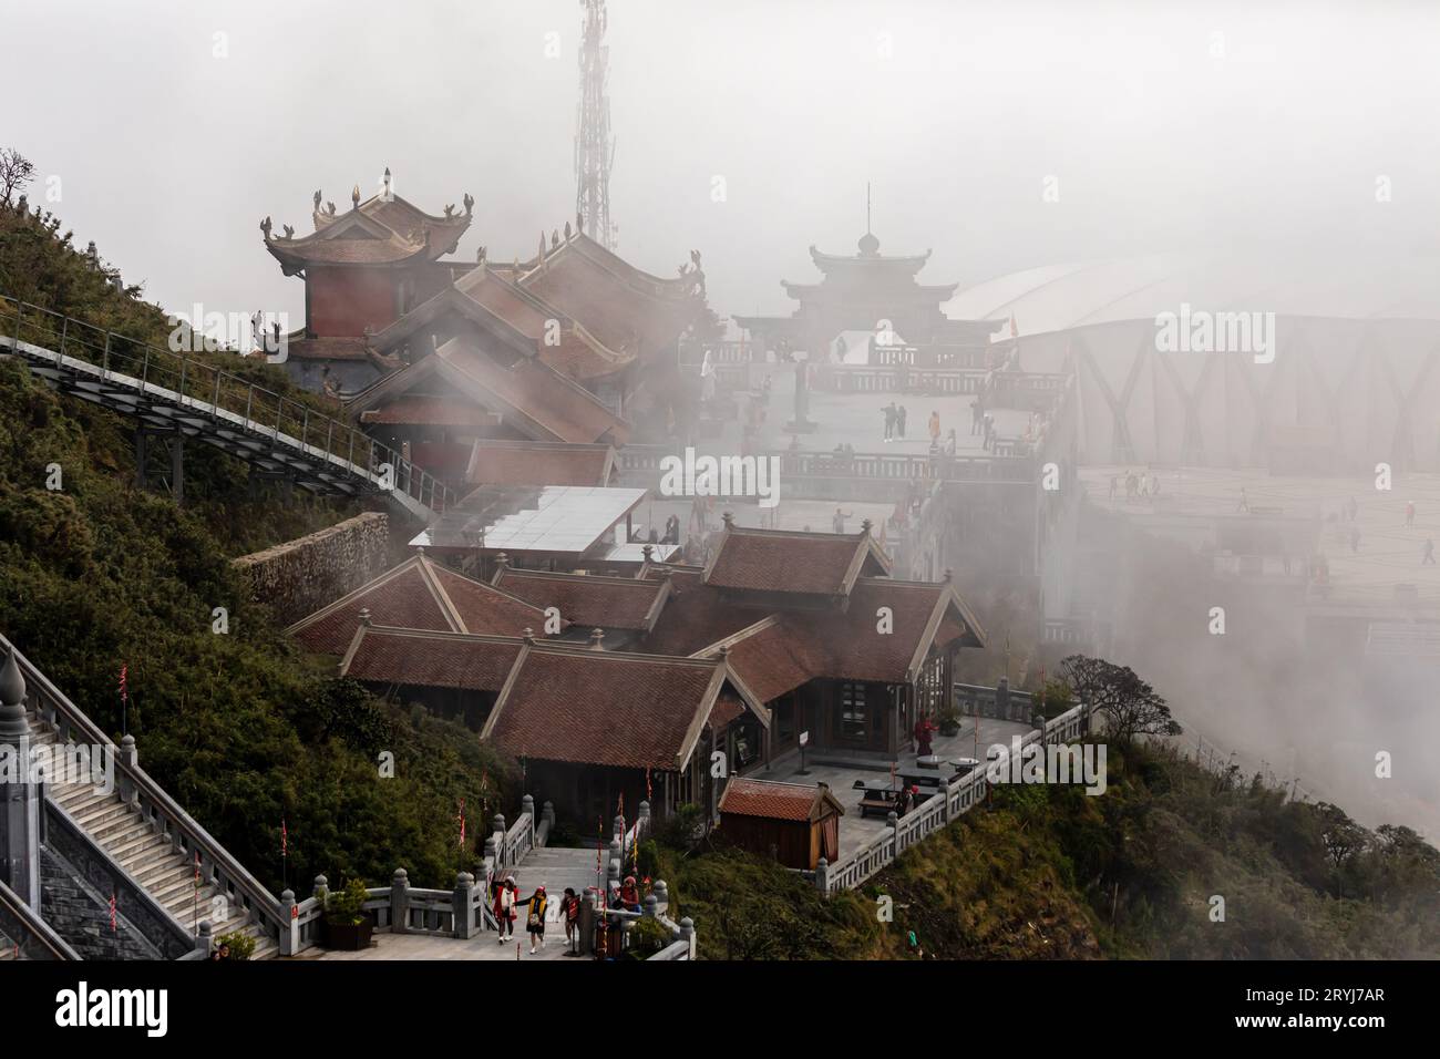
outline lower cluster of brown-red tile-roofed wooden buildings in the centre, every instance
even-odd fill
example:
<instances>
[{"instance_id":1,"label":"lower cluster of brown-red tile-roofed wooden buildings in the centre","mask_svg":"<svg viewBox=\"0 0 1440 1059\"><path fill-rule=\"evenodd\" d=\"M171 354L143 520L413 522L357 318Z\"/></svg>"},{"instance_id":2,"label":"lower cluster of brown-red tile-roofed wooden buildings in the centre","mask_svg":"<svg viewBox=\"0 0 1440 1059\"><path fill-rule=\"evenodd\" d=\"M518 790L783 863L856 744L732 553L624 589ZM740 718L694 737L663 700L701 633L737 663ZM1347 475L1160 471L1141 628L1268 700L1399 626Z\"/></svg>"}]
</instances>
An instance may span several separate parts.
<instances>
[{"instance_id":1,"label":"lower cluster of brown-red tile-roofed wooden buildings in the centre","mask_svg":"<svg viewBox=\"0 0 1440 1059\"><path fill-rule=\"evenodd\" d=\"M884 767L945 702L956 651L985 644L949 581L891 579L868 527L729 517L706 568L645 562L619 578L503 562L480 581L419 555L291 633L341 674L523 758L582 820L621 795L713 820L729 777L798 755L801 733L811 759Z\"/></svg>"}]
</instances>

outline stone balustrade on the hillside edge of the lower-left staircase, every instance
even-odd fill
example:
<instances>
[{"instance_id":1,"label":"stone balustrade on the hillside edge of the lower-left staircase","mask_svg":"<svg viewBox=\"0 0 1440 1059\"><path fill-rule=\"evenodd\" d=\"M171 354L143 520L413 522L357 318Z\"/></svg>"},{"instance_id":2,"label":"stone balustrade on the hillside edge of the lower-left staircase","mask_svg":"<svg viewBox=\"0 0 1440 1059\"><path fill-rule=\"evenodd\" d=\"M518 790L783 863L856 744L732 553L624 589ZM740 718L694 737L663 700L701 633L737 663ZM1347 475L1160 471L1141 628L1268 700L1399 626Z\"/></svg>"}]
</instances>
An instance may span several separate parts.
<instances>
[{"instance_id":1,"label":"stone balustrade on the hillside edge of the lower-left staircase","mask_svg":"<svg viewBox=\"0 0 1440 1059\"><path fill-rule=\"evenodd\" d=\"M261 883L246 867L230 856L209 831L206 831L180 804L171 798L166 790L156 782L132 755L121 751L108 735L91 720L84 710L72 703L50 679L45 676L24 654L0 634L0 645L14 656L20 673L24 676L26 690L36 703L37 712L55 723L63 719L62 738L69 736L69 728L78 729L92 745L105 746L115 759L117 771L128 781L130 791L138 801L147 817L158 816L166 834L179 833L184 839L183 849L189 853L202 854L202 867L209 866L209 880L220 886L222 892L230 895L239 889L248 901L242 901L242 908L262 916L262 924L274 938L279 938L281 931L289 929L289 922L279 911L279 901L264 883Z\"/></svg>"}]
</instances>

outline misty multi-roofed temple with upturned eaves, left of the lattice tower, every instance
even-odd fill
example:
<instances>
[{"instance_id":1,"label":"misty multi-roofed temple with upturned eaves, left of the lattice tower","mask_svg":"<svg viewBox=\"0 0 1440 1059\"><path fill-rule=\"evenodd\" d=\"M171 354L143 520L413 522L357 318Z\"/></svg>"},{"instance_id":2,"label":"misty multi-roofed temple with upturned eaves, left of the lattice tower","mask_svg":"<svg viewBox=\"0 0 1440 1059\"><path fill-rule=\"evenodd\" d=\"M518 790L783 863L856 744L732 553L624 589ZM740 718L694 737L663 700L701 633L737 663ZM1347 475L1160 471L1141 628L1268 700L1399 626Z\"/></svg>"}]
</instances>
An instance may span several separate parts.
<instances>
[{"instance_id":1,"label":"misty multi-roofed temple with upturned eaves, left of the lattice tower","mask_svg":"<svg viewBox=\"0 0 1440 1059\"><path fill-rule=\"evenodd\" d=\"M700 255L645 272L567 222L527 259L455 254L474 216L395 195L314 196L314 232L266 218L266 251L305 282L287 370L343 402L376 439L446 484L474 480L478 441L624 445L658 438L690 401L677 343L707 320ZM481 475L484 471L480 471ZM531 481L526 484L549 484Z\"/></svg>"}]
</instances>

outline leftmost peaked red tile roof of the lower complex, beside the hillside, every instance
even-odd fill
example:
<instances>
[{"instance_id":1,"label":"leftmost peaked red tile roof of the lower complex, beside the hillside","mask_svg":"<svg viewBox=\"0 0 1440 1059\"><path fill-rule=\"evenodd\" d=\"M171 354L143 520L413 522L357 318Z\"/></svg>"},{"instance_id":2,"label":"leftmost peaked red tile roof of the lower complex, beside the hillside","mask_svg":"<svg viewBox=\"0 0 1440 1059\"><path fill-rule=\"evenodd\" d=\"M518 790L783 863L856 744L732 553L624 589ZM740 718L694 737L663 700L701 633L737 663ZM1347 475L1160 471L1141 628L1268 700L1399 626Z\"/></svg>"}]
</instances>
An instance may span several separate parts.
<instances>
[{"instance_id":1,"label":"leftmost peaked red tile roof of the lower complex, beside the hillside","mask_svg":"<svg viewBox=\"0 0 1440 1059\"><path fill-rule=\"evenodd\" d=\"M439 633L540 635L544 612L480 581L415 556L374 581L291 625L289 633L315 654L344 654L369 609L377 625Z\"/></svg>"}]
</instances>

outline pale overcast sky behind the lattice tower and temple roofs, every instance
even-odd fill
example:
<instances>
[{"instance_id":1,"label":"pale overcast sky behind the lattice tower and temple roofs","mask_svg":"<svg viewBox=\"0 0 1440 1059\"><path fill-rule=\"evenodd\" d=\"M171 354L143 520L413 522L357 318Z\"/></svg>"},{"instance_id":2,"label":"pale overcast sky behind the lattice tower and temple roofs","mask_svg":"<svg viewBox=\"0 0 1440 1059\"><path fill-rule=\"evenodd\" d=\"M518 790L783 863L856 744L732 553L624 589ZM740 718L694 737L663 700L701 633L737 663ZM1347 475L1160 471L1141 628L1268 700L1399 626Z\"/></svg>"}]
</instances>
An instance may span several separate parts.
<instances>
[{"instance_id":1,"label":"pale overcast sky behind the lattice tower and temple roofs","mask_svg":"<svg viewBox=\"0 0 1440 1059\"><path fill-rule=\"evenodd\" d=\"M1200 243L1431 254L1440 231L1436 3L609 13L619 251L671 275L698 248L723 314L789 311L806 246L852 252L867 180L881 251L933 248L935 284ZM346 209L390 166L435 213L468 190L465 259L573 216L579 26L576 0L0 0L0 144L148 298L298 323L258 225L310 232L317 187Z\"/></svg>"}]
</instances>

